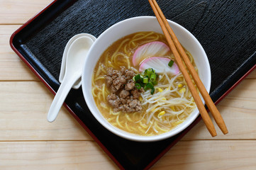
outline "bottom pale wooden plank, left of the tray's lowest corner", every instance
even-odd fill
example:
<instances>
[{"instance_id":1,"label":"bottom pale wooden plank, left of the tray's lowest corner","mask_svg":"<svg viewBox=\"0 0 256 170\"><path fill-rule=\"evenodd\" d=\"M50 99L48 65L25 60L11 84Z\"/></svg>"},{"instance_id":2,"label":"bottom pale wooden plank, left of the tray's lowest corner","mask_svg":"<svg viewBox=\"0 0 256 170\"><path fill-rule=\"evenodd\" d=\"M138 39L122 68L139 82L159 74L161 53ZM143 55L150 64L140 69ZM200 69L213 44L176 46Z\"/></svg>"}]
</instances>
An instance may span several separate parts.
<instances>
[{"instance_id":1,"label":"bottom pale wooden plank, left of the tray's lowest corner","mask_svg":"<svg viewBox=\"0 0 256 170\"><path fill-rule=\"evenodd\" d=\"M0 142L0 169L117 167L95 142Z\"/></svg>"}]
</instances>

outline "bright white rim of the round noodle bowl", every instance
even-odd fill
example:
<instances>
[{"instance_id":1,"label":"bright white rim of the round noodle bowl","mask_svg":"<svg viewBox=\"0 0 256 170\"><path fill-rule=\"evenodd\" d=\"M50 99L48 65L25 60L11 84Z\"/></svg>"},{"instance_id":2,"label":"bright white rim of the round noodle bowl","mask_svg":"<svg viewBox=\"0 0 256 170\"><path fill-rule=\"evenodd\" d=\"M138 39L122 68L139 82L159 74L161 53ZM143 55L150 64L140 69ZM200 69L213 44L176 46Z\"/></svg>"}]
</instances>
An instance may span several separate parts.
<instances>
[{"instance_id":1,"label":"bright white rim of the round noodle bowl","mask_svg":"<svg viewBox=\"0 0 256 170\"><path fill-rule=\"evenodd\" d=\"M94 42L94 44L91 46L89 52L88 52L88 55L87 55L87 58L86 60L84 61L84 67L83 67L83 70L82 70L82 92L83 92L83 95L84 95L84 99L87 103L87 106L89 108L89 111L91 112L92 115L94 115L94 118L96 118L96 120L104 126L104 128L106 128L107 130L113 132L113 134L115 135L118 135L119 137L123 137L127 140L133 140L133 141L137 141L137 142L155 142L155 141L159 141L159 140L165 140L167 139L168 137L172 137L174 135L177 135L179 132L182 132L182 130L186 129L189 127L189 125L191 125L191 123L194 122L194 120L196 120L196 118L198 117L199 115L199 111L197 111L197 113L194 113L194 115L189 115L189 116L193 116L190 120L187 120L185 121L184 123L182 123L182 126L177 126L176 128L170 130L169 132L165 132L165 133L162 133L160 135L154 135L154 136L141 136L141 135L135 135L135 134L132 134L132 133L129 133L129 132L126 132L124 130L121 130L119 128L116 128L115 126L111 125L110 123L108 123L106 121L106 119L104 118L104 120L101 120L97 117L97 115L95 115L94 113L94 108L92 108L91 104L90 103L94 103L94 100L91 101L91 98L89 98L89 96L87 96L87 91L86 88L85 88L85 81L88 81L88 77L87 75L85 74L85 65L87 63L87 60L89 58L89 55L91 54L91 51L94 49L94 46L97 45L98 41L101 40L101 37L104 37L106 34L108 34L108 32L110 32L114 27L118 26L118 25L121 25L125 22L132 22L133 20L137 20L137 19L155 19L156 20L156 17L155 16L136 16L136 17L133 17L133 18L127 18L123 21L119 21L118 23L115 23L113 24L111 27L107 28L106 30L104 30L103 33L101 33L101 35L99 35L99 38L96 39L96 41ZM186 28L184 28L183 26L179 25L178 23L175 23L174 21L170 21L170 20L167 20L168 23L171 23L173 24L174 26L177 26L179 29L182 29L183 31L187 32L187 34L190 35L190 38L193 39L194 42L196 42L196 46L199 47L199 50L201 50L201 53L205 56L205 62L204 64L206 64L206 68L208 69L208 86L206 87L206 91L210 91L211 89L211 67L210 67L210 64L208 62L208 57L206 55L206 52L204 51L204 48L202 47L202 45L200 44L199 40L197 40L194 35L192 35L189 30L187 30ZM128 35L128 34L127 34ZM125 35L123 35L125 36ZM118 38L120 39L120 38ZM116 41L116 40L115 40ZM114 42L115 42L114 41ZM105 49L106 50L106 49ZM98 57L98 56L97 56ZM99 60L99 57L97 58L97 61ZM95 67L95 65L94 65ZM91 75L89 77L89 81L91 83ZM91 94L91 93L90 93ZM203 103L204 100L203 100ZM96 107L97 108L97 107ZM196 108L197 110L197 108ZM195 111L196 111L195 110ZM97 111L100 113L99 109L97 108ZM194 111L194 112L195 112ZM101 113L100 113L101 114ZM101 114L102 115L102 114ZM103 115L102 115L103 116Z\"/></svg>"}]
</instances>

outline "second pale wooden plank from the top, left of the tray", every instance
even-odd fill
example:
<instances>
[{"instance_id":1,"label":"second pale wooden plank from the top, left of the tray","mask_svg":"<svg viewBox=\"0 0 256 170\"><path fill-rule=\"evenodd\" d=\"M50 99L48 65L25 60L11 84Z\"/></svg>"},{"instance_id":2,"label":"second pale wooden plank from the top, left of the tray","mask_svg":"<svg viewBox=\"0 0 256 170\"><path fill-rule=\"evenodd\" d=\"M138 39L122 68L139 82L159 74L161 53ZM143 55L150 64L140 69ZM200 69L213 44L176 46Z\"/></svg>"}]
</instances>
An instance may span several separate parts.
<instances>
[{"instance_id":1,"label":"second pale wooden plank from the top, left of the tray","mask_svg":"<svg viewBox=\"0 0 256 170\"><path fill-rule=\"evenodd\" d=\"M0 81L38 81L35 74L28 69L26 64L13 52L9 45L11 34L19 27L20 25L0 26Z\"/></svg>"}]
</instances>

